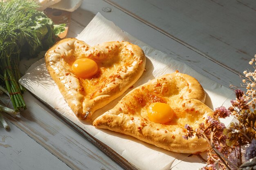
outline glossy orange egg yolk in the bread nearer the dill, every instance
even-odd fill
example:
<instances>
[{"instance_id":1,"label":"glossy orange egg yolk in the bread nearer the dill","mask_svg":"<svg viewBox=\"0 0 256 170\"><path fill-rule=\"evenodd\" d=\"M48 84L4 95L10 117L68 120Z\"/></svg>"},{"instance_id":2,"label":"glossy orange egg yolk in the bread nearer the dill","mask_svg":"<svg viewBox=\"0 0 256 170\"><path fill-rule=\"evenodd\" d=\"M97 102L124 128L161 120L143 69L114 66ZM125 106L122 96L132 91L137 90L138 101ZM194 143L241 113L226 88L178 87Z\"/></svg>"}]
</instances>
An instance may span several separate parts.
<instances>
[{"instance_id":1,"label":"glossy orange egg yolk in the bread nearer the dill","mask_svg":"<svg viewBox=\"0 0 256 170\"><path fill-rule=\"evenodd\" d=\"M77 59L72 64L72 71L80 78L89 78L98 72L98 65L89 58Z\"/></svg>"}]
</instances>

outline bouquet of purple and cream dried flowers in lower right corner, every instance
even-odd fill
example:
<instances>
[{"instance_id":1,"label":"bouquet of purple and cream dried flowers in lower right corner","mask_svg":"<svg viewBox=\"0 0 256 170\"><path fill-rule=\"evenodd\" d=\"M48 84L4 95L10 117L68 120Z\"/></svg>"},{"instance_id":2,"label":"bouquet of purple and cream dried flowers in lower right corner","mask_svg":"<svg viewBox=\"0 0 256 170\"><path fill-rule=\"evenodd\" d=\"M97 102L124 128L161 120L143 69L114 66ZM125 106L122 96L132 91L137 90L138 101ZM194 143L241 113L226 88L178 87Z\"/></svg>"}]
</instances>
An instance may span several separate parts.
<instances>
[{"instance_id":1,"label":"bouquet of purple and cream dried flowers in lower right corner","mask_svg":"<svg viewBox=\"0 0 256 170\"><path fill-rule=\"evenodd\" d=\"M249 64L256 65L256 55ZM207 166L202 170L256 170L256 67L253 68L253 72L244 71L246 92L236 89L236 99L231 100L229 108L216 108L213 116L198 128L185 126L184 139L195 135L209 143ZM225 127L219 118L230 115L237 121Z\"/></svg>"}]
</instances>

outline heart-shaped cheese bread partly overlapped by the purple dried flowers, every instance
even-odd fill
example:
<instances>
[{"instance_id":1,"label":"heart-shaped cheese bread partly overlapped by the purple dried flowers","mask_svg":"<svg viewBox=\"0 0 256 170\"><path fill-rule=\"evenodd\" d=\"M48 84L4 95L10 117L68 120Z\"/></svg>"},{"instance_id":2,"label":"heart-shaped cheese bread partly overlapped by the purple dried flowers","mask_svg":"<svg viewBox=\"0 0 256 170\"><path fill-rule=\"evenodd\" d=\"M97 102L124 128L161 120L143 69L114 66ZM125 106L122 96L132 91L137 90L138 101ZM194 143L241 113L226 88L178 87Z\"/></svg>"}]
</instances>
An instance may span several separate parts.
<instances>
[{"instance_id":1,"label":"heart-shaped cheese bread partly overlapped by the purple dried flowers","mask_svg":"<svg viewBox=\"0 0 256 170\"><path fill-rule=\"evenodd\" d=\"M130 91L93 125L173 152L199 153L207 150L207 141L182 136L186 135L186 124L196 128L213 114L204 102L204 89L195 78L171 73Z\"/></svg>"}]
</instances>

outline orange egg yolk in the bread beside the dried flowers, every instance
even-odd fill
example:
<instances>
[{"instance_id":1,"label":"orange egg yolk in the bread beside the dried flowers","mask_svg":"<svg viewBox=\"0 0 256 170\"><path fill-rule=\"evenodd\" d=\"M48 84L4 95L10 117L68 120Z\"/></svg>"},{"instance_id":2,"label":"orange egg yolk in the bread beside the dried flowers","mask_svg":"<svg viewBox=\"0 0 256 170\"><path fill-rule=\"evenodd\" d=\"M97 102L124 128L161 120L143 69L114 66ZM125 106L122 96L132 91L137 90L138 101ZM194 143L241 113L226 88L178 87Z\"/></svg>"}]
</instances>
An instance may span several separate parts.
<instances>
[{"instance_id":1,"label":"orange egg yolk in the bread beside the dried flowers","mask_svg":"<svg viewBox=\"0 0 256 170\"><path fill-rule=\"evenodd\" d=\"M148 106L148 118L150 121L165 124L173 118L173 109L165 103L155 102Z\"/></svg>"}]
</instances>

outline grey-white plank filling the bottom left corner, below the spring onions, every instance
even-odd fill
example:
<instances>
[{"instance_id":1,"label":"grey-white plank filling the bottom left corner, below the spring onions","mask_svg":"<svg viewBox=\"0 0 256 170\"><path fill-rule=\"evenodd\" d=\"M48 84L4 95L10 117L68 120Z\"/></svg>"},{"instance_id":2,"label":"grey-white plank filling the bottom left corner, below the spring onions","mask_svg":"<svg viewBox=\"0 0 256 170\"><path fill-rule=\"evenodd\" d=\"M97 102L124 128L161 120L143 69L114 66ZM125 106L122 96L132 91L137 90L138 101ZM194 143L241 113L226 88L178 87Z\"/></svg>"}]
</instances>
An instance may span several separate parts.
<instances>
[{"instance_id":1,"label":"grey-white plank filling the bottom left corner, below the spring onions","mask_svg":"<svg viewBox=\"0 0 256 170\"><path fill-rule=\"evenodd\" d=\"M0 128L1 170L72 170L11 122L7 123L10 130Z\"/></svg>"}]
</instances>

